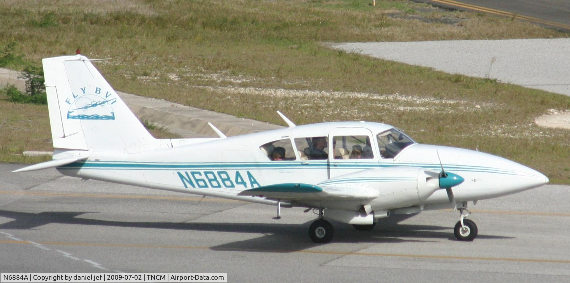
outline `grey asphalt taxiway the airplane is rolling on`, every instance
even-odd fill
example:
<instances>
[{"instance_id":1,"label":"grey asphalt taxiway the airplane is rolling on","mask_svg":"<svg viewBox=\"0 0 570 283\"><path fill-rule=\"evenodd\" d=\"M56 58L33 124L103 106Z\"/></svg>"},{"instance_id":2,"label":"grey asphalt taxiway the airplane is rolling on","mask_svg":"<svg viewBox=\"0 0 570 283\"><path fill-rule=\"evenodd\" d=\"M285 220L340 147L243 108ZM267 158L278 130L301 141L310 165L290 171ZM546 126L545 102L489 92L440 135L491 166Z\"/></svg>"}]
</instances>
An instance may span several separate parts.
<instances>
[{"instance_id":1,"label":"grey asphalt taxiway the airplane is rolling on","mask_svg":"<svg viewBox=\"0 0 570 283\"><path fill-rule=\"evenodd\" d=\"M569 282L568 186L452 211L390 216L373 231L333 223L317 245L300 208L162 192L0 165L2 272L227 272L228 282Z\"/></svg>"}]
</instances>

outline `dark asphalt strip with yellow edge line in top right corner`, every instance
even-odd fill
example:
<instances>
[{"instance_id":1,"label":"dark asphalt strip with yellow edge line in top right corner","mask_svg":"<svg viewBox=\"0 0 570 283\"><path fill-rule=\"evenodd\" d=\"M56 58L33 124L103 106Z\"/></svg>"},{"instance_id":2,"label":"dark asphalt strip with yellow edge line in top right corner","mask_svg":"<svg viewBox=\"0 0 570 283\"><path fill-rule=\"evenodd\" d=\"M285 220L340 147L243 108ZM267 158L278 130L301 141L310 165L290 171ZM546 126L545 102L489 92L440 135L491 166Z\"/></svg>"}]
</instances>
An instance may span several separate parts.
<instances>
[{"instance_id":1,"label":"dark asphalt strip with yellow edge line in top right corner","mask_svg":"<svg viewBox=\"0 0 570 283\"><path fill-rule=\"evenodd\" d=\"M473 10L514 17L570 31L570 1L567 0L414 0L435 6Z\"/></svg>"}]
</instances>

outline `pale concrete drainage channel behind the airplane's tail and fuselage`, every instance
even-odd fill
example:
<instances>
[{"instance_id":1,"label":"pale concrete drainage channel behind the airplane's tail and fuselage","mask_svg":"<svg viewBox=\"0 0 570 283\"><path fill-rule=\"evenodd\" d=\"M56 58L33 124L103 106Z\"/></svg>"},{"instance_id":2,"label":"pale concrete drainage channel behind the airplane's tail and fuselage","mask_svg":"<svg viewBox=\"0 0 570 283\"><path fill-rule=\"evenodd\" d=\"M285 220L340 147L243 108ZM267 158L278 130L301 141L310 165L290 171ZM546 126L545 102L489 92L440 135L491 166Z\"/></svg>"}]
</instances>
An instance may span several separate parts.
<instances>
[{"instance_id":1,"label":"pale concrete drainage channel behind the airplane's tail and fuselage","mask_svg":"<svg viewBox=\"0 0 570 283\"><path fill-rule=\"evenodd\" d=\"M0 68L0 85L13 84L18 89L25 89L25 80L18 79L19 72ZM207 124L210 122L226 136L262 132L283 128L265 122L246 118L238 118L228 114L217 113L169 102L117 91L117 95L125 101L129 108L140 119L152 121L158 126L165 126L169 132L183 138L217 137ZM277 113L275 113L277 115ZM51 155L51 151L24 151L24 155Z\"/></svg>"}]
</instances>

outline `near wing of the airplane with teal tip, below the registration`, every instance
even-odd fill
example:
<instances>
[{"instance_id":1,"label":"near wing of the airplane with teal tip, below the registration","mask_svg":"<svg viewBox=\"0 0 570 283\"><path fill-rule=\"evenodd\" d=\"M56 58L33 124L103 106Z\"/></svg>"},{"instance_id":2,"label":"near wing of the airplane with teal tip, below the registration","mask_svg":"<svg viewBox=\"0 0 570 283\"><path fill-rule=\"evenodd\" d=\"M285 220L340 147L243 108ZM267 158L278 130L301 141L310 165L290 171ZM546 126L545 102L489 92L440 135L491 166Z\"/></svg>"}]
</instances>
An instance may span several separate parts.
<instances>
[{"instance_id":1,"label":"near wing of the airplane with teal tip, below the registration","mask_svg":"<svg viewBox=\"0 0 570 283\"><path fill-rule=\"evenodd\" d=\"M282 183L250 188L238 195L260 196L286 200L355 200L380 196L377 190L365 186L339 187L303 183Z\"/></svg>"}]
</instances>

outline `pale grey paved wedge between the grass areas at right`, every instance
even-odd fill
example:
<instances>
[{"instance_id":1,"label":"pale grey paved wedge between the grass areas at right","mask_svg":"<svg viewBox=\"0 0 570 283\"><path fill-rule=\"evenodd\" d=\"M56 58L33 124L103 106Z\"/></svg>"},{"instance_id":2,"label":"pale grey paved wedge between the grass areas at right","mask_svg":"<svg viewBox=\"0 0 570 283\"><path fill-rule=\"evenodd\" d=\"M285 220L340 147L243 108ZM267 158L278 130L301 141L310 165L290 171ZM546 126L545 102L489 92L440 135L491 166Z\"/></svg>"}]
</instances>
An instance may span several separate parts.
<instances>
[{"instance_id":1,"label":"pale grey paved wedge between the grass areas at right","mask_svg":"<svg viewBox=\"0 0 570 283\"><path fill-rule=\"evenodd\" d=\"M570 38L331 43L332 48L570 96Z\"/></svg>"}]
</instances>

